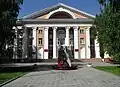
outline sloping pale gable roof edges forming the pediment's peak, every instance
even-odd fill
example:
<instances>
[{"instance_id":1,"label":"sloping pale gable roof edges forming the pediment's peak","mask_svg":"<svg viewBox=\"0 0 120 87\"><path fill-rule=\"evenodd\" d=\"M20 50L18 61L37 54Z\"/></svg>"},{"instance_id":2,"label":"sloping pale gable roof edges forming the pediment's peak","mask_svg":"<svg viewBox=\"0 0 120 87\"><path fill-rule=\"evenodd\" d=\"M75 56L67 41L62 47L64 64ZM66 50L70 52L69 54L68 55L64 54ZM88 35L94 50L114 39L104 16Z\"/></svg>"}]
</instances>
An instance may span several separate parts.
<instances>
[{"instance_id":1,"label":"sloping pale gable roof edges forming the pediment's peak","mask_svg":"<svg viewBox=\"0 0 120 87\"><path fill-rule=\"evenodd\" d=\"M92 18L92 19L95 18L94 15L91 15L91 14L86 13L86 12L84 12L84 11L78 10L78 9L73 8L73 7L71 7L71 6L65 5L65 4L63 4L63 3L58 3L57 5L53 5L53 6L51 6L51 7L45 8L45 9L43 9L43 10L39 10L39 11L36 11L36 12L34 12L34 13L32 13L32 14L26 15L26 16L24 16L22 19L34 19L34 18L37 18L37 17L39 17L39 16L42 16L42 15L44 15L44 14L46 14L46 13L49 13L49 12L55 10L55 9L58 9L58 8L60 8L60 7L66 8L66 9L68 9L68 10L70 10L70 11L73 11L73 12L76 12L76 13L80 13L80 14L82 14L82 15L87 16L88 18Z\"/></svg>"}]
</instances>

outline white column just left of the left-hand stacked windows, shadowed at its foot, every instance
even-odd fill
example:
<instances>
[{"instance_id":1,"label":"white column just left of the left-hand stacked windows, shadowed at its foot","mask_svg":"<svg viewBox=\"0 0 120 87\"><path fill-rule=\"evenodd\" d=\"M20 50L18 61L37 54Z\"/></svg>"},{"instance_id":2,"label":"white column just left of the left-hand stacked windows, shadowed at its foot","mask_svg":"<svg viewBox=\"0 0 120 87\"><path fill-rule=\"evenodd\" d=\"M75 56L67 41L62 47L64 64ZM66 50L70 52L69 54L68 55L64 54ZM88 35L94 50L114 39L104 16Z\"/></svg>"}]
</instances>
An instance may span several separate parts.
<instances>
[{"instance_id":1,"label":"white column just left of the left-hand stacked windows, shadowed at its foot","mask_svg":"<svg viewBox=\"0 0 120 87\"><path fill-rule=\"evenodd\" d=\"M32 27L33 32L33 40L32 40L32 48L33 48L33 52L35 54L33 54L33 59L37 59L37 27Z\"/></svg>"}]
</instances>

